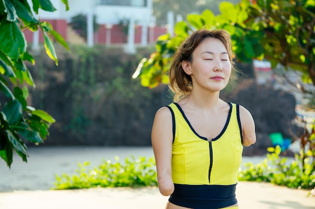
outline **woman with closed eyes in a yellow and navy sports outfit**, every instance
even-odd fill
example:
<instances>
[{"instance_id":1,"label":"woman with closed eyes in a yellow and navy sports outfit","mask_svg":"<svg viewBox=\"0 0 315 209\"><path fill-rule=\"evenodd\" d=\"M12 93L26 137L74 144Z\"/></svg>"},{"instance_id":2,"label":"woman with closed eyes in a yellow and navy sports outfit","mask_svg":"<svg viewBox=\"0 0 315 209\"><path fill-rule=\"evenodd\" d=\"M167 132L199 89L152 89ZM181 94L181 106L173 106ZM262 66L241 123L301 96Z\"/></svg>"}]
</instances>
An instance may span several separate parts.
<instances>
[{"instance_id":1,"label":"woman with closed eyes in a yellow and navy sports outfit","mask_svg":"<svg viewBox=\"0 0 315 209\"><path fill-rule=\"evenodd\" d=\"M248 110L219 98L232 70L224 30L195 31L174 55L174 102L156 112L151 135L159 189L170 195L167 209L239 208L243 145L254 144L256 134Z\"/></svg>"}]
</instances>

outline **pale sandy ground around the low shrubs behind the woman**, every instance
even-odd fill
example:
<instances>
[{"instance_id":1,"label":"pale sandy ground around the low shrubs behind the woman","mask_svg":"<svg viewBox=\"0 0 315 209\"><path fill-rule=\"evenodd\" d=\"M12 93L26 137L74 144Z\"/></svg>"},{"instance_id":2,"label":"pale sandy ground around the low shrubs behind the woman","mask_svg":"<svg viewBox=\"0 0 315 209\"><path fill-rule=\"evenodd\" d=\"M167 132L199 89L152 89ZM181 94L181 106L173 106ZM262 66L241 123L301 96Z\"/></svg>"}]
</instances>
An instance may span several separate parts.
<instances>
[{"instance_id":1,"label":"pale sandy ground around the low shrubs behind the woman","mask_svg":"<svg viewBox=\"0 0 315 209\"><path fill-rule=\"evenodd\" d=\"M152 157L151 147L31 147L28 153L27 163L15 155L10 170L0 161L1 209L165 208L168 197L156 187L50 190L55 174L74 173L78 162L90 161L94 167L115 156ZM243 162L263 158L244 157ZM240 209L315 209L309 192L270 183L241 181L237 186Z\"/></svg>"}]
</instances>

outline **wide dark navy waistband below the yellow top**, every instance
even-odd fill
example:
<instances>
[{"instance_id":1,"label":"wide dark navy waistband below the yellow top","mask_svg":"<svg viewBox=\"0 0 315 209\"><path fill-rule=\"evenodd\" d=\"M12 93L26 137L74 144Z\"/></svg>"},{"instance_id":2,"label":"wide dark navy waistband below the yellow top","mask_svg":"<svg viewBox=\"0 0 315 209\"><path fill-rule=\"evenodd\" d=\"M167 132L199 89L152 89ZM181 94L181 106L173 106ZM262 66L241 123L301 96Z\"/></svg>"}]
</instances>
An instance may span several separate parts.
<instances>
[{"instance_id":1,"label":"wide dark navy waistband below the yellow top","mask_svg":"<svg viewBox=\"0 0 315 209\"><path fill-rule=\"evenodd\" d=\"M187 185L174 184L169 201L194 209L217 209L236 204L236 184L233 185Z\"/></svg>"}]
</instances>

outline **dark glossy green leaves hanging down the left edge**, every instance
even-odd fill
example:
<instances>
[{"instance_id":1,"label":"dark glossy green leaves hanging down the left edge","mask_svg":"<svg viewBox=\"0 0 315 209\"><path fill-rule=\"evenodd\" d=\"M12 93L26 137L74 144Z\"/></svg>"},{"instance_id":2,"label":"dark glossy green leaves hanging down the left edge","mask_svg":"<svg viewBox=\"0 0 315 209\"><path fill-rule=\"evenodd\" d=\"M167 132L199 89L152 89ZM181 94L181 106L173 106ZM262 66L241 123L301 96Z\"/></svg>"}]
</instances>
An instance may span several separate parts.
<instances>
[{"instance_id":1,"label":"dark glossy green leaves hanging down the left edge","mask_svg":"<svg viewBox=\"0 0 315 209\"><path fill-rule=\"evenodd\" d=\"M67 0L61 2L68 10ZM34 65L35 61L27 49L24 31L42 31L46 53L56 65L58 58L52 38L68 49L66 42L49 23L33 16L33 13L38 14L39 9L56 11L51 2L33 0L32 3L30 8L27 1L0 1L0 90L7 98L0 112L0 156L9 167L13 161L13 149L23 161L27 161L24 140L42 143L49 134L50 124L55 122L45 111L27 105L26 84L35 88L35 83L25 62Z\"/></svg>"}]
</instances>

